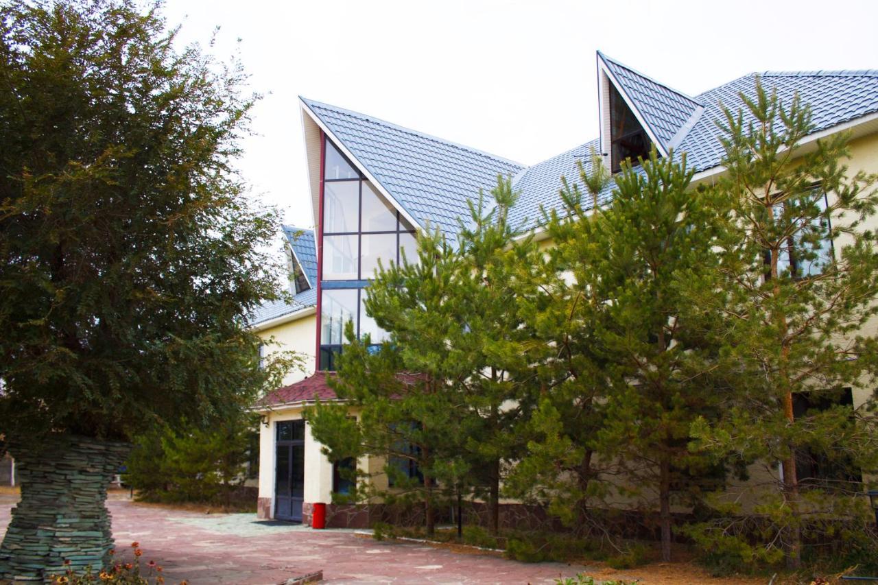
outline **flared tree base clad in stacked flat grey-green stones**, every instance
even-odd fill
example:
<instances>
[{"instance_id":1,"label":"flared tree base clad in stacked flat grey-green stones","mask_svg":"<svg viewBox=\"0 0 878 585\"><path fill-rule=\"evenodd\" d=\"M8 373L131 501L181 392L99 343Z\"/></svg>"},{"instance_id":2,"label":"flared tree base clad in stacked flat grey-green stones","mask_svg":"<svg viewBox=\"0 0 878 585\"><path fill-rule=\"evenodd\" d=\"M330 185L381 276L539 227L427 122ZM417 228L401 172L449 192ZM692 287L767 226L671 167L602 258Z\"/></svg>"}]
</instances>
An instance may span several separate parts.
<instances>
[{"instance_id":1,"label":"flared tree base clad in stacked flat grey-green stones","mask_svg":"<svg viewBox=\"0 0 878 585\"><path fill-rule=\"evenodd\" d=\"M0 545L0 581L48 581L68 567L77 574L104 567L113 548L104 502L129 450L129 444L70 435L30 449L10 444L21 501Z\"/></svg>"}]
</instances>

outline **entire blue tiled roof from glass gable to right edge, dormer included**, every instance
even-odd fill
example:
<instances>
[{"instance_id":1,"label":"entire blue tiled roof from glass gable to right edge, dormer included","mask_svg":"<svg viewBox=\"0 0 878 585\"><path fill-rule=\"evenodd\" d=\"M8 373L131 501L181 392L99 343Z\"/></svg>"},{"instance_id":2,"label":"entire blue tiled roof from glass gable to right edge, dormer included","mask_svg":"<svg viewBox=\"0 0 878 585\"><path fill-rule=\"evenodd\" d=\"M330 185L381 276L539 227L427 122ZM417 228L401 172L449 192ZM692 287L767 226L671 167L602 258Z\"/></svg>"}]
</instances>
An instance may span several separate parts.
<instances>
[{"instance_id":1,"label":"entire blue tiled roof from glass gable to right edge, dormer included","mask_svg":"<svg viewBox=\"0 0 878 585\"><path fill-rule=\"evenodd\" d=\"M720 103L737 109L741 105L740 92L747 96L755 94L756 74L687 97L617 61L603 55L601 58L659 140L670 143L680 133L676 136L679 145L674 148L675 155L686 152L688 164L697 171L720 164L722 130L716 126L716 120L722 118ZM798 92L802 103L811 107L815 132L878 112L878 70L782 71L759 75L766 89L776 90L786 105ZM581 160L588 170L590 148L600 148L599 140L588 141L525 168L363 114L303 101L401 206L422 223L442 228L450 237L457 234L456 219L467 217L466 200L475 199L479 188L492 187L498 173L515 177L514 188L521 192L510 220L536 227L542 218L541 208L561 205L561 177L579 183L577 161ZM696 110L702 107L699 115ZM600 199L611 197L611 191L608 188L601 193Z\"/></svg>"}]
</instances>

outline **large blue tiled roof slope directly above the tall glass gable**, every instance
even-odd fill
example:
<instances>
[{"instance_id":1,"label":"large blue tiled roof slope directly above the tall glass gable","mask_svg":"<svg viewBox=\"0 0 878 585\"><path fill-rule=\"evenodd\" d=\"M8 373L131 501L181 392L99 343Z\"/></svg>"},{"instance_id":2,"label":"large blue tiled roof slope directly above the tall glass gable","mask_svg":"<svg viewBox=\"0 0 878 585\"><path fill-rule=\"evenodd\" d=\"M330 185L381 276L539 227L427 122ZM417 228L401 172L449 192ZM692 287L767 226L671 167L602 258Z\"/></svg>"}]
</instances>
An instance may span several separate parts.
<instances>
[{"instance_id":1,"label":"large blue tiled roof slope directly above the tall glass gable","mask_svg":"<svg viewBox=\"0 0 878 585\"><path fill-rule=\"evenodd\" d=\"M457 235L467 199L523 165L335 105L302 101L421 227Z\"/></svg>"}]
</instances>

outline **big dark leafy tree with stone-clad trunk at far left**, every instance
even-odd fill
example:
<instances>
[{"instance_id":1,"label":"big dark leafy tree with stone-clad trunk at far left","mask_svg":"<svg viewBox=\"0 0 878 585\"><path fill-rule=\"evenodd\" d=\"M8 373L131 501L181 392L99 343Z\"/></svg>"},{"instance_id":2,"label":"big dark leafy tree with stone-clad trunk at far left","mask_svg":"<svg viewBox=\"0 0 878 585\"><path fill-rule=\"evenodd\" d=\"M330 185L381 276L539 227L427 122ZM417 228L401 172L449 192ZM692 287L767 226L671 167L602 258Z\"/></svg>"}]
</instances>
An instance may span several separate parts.
<instances>
[{"instance_id":1,"label":"big dark leafy tree with stone-clad trunk at far left","mask_svg":"<svg viewBox=\"0 0 878 585\"><path fill-rule=\"evenodd\" d=\"M99 566L119 443L221 420L270 377L246 317L276 297L257 251L276 218L232 166L254 98L238 64L177 52L159 8L0 5L0 435L23 484L0 579L60 574L71 555ZM74 451L110 459L92 472ZM33 472L61 463L81 465L89 498ZM53 507L104 537L54 548ZM23 544L49 552L25 559Z\"/></svg>"}]
</instances>

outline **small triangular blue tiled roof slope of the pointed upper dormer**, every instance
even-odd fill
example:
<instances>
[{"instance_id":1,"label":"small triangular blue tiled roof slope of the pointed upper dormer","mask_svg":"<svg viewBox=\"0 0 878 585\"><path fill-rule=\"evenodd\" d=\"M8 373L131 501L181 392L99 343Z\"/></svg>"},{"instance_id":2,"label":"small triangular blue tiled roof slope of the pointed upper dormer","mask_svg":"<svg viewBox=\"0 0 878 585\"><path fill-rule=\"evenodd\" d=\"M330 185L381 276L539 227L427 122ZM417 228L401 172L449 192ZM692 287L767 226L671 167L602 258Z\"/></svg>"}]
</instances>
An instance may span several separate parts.
<instances>
[{"instance_id":1,"label":"small triangular blue tiled roof slope of the pointed upper dormer","mask_svg":"<svg viewBox=\"0 0 878 585\"><path fill-rule=\"evenodd\" d=\"M625 67L618 61L598 53L607 64L607 69L615 76L624 94L637 105L637 112L650 126L652 134L661 141L662 147L669 150L673 137L686 125L702 104L692 97L672 90L666 85Z\"/></svg>"}]
</instances>

